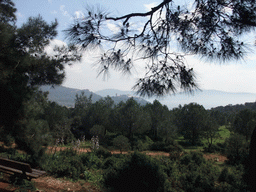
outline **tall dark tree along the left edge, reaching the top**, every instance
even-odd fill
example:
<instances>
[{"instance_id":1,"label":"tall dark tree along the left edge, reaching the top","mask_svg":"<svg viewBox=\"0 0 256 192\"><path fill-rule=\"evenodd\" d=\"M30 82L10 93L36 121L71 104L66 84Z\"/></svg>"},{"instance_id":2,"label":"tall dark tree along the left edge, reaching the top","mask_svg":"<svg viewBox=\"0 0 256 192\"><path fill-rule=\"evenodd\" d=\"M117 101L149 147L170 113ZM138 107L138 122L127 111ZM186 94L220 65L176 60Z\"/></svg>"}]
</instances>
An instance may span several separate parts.
<instances>
[{"instance_id":1,"label":"tall dark tree along the left edge, reaching the top","mask_svg":"<svg viewBox=\"0 0 256 192\"><path fill-rule=\"evenodd\" d=\"M28 128L17 125L27 118L35 88L61 84L64 65L81 56L75 46L56 47L55 56L49 56L45 47L57 35L57 21L47 24L40 16L30 17L18 28L15 11L12 1L0 1L0 129L6 138L18 140L17 133Z\"/></svg>"}]
</instances>

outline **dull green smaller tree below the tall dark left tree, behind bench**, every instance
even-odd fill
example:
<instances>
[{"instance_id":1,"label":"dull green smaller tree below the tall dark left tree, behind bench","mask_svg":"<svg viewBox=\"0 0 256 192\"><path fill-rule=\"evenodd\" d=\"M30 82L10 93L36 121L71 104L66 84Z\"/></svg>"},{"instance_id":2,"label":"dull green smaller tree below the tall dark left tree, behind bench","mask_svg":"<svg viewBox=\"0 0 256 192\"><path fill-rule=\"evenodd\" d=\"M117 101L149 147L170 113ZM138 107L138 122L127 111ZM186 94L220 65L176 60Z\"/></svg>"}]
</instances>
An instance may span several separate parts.
<instances>
[{"instance_id":1,"label":"dull green smaller tree below the tall dark left tree, behind bench","mask_svg":"<svg viewBox=\"0 0 256 192\"><path fill-rule=\"evenodd\" d=\"M15 143L32 156L30 160L34 161L33 163L37 162L44 153L43 145L47 146L51 141L49 124L43 119L47 102L47 94L35 92L31 99L23 103L23 118L13 127L12 136L15 138ZM3 141L5 136L5 133L1 134Z\"/></svg>"}]
</instances>

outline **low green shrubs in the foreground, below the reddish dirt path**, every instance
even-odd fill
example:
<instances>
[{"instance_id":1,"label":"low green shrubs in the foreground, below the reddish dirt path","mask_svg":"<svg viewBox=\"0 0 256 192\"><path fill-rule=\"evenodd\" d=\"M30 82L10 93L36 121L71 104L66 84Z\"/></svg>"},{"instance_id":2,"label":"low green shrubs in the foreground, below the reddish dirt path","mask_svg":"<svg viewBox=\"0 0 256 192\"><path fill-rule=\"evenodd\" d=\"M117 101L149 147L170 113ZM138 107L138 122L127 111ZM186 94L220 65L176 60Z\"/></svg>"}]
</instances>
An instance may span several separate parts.
<instances>
[{"instance_id":1,"label":"low green shrubs in the foreground, below the reddish dirt path","mask_svg":"<svg viewBox=\"0 0 256 192\"><path fill-rule=\"evenodd\" d=\"M224 192L247 189L243 165L230 165L221 170L206 161L202 153L180 156L182 148L171 144L170 154L173 155L159 158L140 152L112 155L102 148L80 155L73 150L64 150L45 154L41 167L55 177L84 179L106 191Z\"/></svg>"}]
</instances>

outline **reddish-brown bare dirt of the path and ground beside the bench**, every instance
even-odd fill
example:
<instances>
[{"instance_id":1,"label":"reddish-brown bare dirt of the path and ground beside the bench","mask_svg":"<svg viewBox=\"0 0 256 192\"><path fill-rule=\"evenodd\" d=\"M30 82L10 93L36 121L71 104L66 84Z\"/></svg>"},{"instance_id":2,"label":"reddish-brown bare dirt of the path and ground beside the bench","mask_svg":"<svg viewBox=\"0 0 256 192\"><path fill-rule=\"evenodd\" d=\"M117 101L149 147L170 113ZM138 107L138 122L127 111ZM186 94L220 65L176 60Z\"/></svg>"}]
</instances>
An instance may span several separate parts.
<instances>
[{"instance_id":1,"label":"reddish-brown bare dirt of the path and ground beside the bench","mask_svg":"<svg viewBox=\"0 0 256 192\"><path fill-rule=\"evenodd\" d=\"M56 148L56 151L64 150L64 147ZM49 148L49 152L54 152L55 149ZM90 152L90 149L79 149L79 153ZM120 151L111 151L112 154L118 154ZM126 154L127 152L123 152ZM144 152L150 156L169 156L169 153L165 152ZM225 162L227 158L219 154L204 154L204 158L207 160L213 160L215 162ZM61 178L54 178L50 176L42 176L37 179L32 179L35 182L37 192L64 192L64 191L75 191L75 192L101 192L100 190L93 187L89 182L71 182ZM0 181L0 192L13 192L16 188L8 184L7 182Z\"/></svg>"}]
</instances>

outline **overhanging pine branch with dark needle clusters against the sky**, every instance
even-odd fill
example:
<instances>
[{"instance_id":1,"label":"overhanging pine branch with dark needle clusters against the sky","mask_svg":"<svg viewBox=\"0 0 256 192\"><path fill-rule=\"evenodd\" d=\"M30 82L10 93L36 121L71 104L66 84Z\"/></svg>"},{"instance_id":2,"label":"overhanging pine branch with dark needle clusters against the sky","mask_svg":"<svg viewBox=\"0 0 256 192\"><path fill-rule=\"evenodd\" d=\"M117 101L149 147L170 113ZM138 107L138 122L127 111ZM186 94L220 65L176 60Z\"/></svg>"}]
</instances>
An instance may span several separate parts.
<instances>
[{"instance_id":1,"label":"overhanging pine branch with dark needle clusters against the sky","mask_svg":"<svg viewBox=\"0 0 256 192\"><path fill-rule=\"evenodd\" d=\"M99 73L110 68L127 73L137 60L146 63L144 77L134 86L140 95L193 91L198 86L185 56L243 58L246 45L241 37L256 26L256 4L255 0L194 0L188 8L175 2L162 0L148 12L117 17L88 8L84 18L65 30L66 36L84 50L105 48ZM135 24L138 19L142 26ZM104 28L109 22L119 31Z\"/></svg>"}]
</instances>

